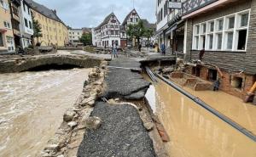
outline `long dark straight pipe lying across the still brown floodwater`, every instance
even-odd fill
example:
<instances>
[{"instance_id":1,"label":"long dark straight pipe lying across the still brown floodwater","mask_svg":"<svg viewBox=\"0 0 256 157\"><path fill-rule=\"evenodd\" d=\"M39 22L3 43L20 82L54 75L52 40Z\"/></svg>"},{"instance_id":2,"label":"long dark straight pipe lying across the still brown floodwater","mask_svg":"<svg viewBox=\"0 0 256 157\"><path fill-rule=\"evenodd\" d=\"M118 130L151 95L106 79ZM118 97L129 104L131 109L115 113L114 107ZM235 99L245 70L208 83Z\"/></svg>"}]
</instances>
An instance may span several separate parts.
<instances>
[{"instance_id":1,"label":"long dark straight pipe lying across the still brown floodwater","mask_svg":"<svg viewBox=\"0 0 256 157\"><path fill-rule=\"evenodd\" d=\"M239 124L237 124L235 121L230 120L230 118L228 118L227 116L221 114L218 112L218 110L213 109L210 105L206 104L205 102L203 102L200 98L196 98L195 96L193 96L192 94L186 92L185 90L183 90L183 88L178 87L175 83L173 83L172 81L167 80L165 77L160 76L159 74L156 74L156 76L158 76L162 81L165 81L168 85L170 85L171 87L175 88L179 93L183 93L183 95L185 95L186 97L190 98L191 100L193 100L196 104L199 104L201 107L203 107L204 109L207 109L209 112L211 112L213 115L218 116L218 118L220 118L221 120L225 121L226 123L230 124L230 126L233 126L234 128L236 128L236 130L238 130L239 132L243 133L244 135L246 135L247 137L249 137L250 139L252 139L254 142L256 142L256 136L252 133L249 132L246 128L240 126Z\"/></svg>"}]
</instances>

